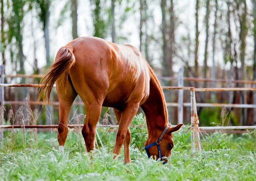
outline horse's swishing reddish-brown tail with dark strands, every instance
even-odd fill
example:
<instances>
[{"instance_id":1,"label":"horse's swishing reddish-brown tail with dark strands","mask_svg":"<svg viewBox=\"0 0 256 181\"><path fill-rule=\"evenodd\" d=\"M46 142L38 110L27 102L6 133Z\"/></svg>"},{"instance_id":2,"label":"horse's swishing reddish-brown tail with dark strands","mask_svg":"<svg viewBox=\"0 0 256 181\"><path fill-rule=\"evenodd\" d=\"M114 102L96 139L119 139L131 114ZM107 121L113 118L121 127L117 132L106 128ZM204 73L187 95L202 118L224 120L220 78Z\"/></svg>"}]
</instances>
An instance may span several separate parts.
<instances>
[{"instance_id":1,"label":"horse's swishing reddish-brown tail with dark strands","mask_svg":"<svg viewBox=\"0 0 256 181\"><path fill-rule=\"evenodd\" d=\"M65 90L67 89L70 68L74 66L75 61L73 47L63 46L58 50L54 63L48 68L48 73L39 82L38 101L42 100L44 104L46 102L49 104L51 89L57 79L62 79Z\"/></svg>"}]
</instances>

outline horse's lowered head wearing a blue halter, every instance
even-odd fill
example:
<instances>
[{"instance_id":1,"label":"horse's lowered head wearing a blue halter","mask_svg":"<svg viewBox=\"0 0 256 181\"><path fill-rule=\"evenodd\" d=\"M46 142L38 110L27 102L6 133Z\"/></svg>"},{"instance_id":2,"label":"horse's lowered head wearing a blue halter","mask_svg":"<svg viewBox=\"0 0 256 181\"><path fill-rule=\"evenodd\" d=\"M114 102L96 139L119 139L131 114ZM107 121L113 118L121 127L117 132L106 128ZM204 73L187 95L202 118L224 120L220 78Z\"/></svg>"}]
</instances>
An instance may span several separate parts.
<instances>
[{"instance_id":1,"label":"horse's lowered head wearing a blue halter","mask_svg":"<svg viewBox=\"0 0 256 181\"><path fill-rule=\"evenodd\" d=\"M178 131L183 124L179 124L175 127L171 127L167 125L163 130L162 134L158 135L158 137L150 137L147 139L145 143L145 150L148 154L148 157L153 156L158 159L167 162L167 159L163 159L162 157L169 157L171 155L171 150L174 146L172 133Z\"/></svg>"}]
</instances>

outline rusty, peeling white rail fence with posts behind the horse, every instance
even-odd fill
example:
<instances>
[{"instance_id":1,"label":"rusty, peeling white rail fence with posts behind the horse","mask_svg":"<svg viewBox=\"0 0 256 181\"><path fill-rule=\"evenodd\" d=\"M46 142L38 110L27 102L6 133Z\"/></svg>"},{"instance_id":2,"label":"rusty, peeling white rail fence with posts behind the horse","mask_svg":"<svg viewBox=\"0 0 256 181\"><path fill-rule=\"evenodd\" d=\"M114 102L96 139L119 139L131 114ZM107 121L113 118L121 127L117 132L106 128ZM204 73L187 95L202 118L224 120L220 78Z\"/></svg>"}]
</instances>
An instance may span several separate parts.
<instances>
[{"instance_id":1,"label":"rusty, peeling white rail fence with posts behind the horse","mask_svg":"<svg viewBox=\"0 0 256 181\"><path fill-rule=\"evenodd\" d=\"M6 75L6 77L28 77L28 78L42 78L43 75ZM3 79L4 76L1 76ZM174 77L160 77L160 79L170 80L170 79L178 79ZM181 80L188 80L188 81L215 81L215 82L232 82L232 83L250 83L256 84L256 81L249 81L249 80L225 80L225 79L208 79L208 78L190 78L190 77L182 77ZM3 87L38 87L38 84L5 84L3 81L0 83L0 88L2 88L1 97L2 97L2 107L5 104L43 104L42 102L36 101L4 101L3 95ZM220 92L220 91L256 91L256 88L252 87L229 87L229 88L195 88L195 87L184 87L183 84L178 84L178 86L163 86L163 89L167 90L179 90L179 93L182 93L183 100L183 92L180 91L190 91L190 103L183 103L183 101L179 101L179 103L167 103L168 106L177 106L178 108L190 107L190 119L191 119L191 126L192 134L191 134L191 151L195 150L195 140L197 142L198 150L200 151L203 146L200 141L200 135L202 136L201 130L247 130L247 129L256 129L256 126L212 126L212 127L199 127L199 118L197 115L197 107L235 107L235 108L256 108L256 105L249 105L249 104L220 104L220 103L196 103L196 96L195 92ZM54 84L55 86L55 84ZM180 96L180 94L179 94ZM180 98L179 98L180 100ZM50 102L52 105L58 105L58 102ZM83 102L75 102L75 105L83 105ZM182 110L181 109L181 110ZM183 110L182 110L183 111ZM182 112L183 113L183 112ZM3 119L3 115L1 116ZM182 118L182 117L181 117ZM2 122L3 123L3 122ZM82 127L83 125L68 125L69 128L77 128ZM143 127L145 125L130 125L131 127ZM105 128L117 128L118 125L97 125L98 128L105 127ZM0 125L1 128L57 128L57 125ZM1 134L3 135L3 134ZM2 136L1 136L2 137ZM2 139L2 138L1 138Z\"/></svg>"}]
</instances>

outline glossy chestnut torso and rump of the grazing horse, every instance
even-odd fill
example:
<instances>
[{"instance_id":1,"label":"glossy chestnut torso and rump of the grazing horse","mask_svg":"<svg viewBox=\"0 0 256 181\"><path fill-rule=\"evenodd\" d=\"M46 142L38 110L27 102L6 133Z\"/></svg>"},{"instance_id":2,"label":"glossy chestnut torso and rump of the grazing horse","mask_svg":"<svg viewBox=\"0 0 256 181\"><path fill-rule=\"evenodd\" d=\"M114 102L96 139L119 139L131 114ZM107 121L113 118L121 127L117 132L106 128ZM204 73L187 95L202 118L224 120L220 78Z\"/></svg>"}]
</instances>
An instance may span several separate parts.
<instances>
[{"instance_id":1,"label":"glossy chestnut torso and rump of the grazing horse","mask_svg":"<svg viewBox=\"0 0 256 181\"><path fill-rule=\"evenodd\" d=\"M103 106L116 108L129 101L145 101L149 66L137 48L94 37L78 38L68 46L76 57L70 69L72 84L83 101L103 99Z\"/></svg>"}]
</instances>

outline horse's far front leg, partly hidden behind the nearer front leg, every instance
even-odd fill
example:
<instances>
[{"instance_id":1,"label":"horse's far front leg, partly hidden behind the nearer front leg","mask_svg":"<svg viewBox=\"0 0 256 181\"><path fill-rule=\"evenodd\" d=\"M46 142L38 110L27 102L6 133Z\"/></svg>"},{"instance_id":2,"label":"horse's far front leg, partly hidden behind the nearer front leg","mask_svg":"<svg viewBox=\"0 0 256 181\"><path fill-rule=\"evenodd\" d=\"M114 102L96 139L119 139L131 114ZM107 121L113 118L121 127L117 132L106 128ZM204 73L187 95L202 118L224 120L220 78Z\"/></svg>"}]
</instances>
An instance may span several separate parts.
<instances>
[{"instance_id":1,"label":"horse's far front leg, partly hidden behind the nearer front leg","mask_svg":"<svg viewBox=\"0 0 256 181\"><path fill-rule=\"evenodd\" d=\"M122 116L122 112L114 108L114 113L115 113L116 120L119 124L121 116ZM127 132L126 132L124 142L123 142L123 146L124 146L124 160L123 161L124 161L124 164L125 163L131 163L131 161L130 161L130 151L129 151L130 142L131 142L131 132L130 132L130 129L128 128Z\"/></svg>"}]
</instances>

